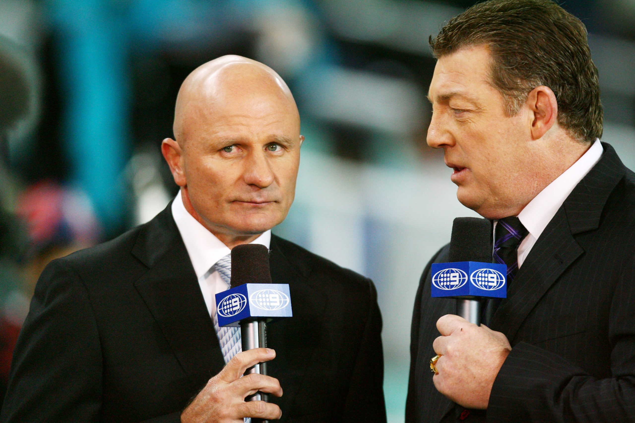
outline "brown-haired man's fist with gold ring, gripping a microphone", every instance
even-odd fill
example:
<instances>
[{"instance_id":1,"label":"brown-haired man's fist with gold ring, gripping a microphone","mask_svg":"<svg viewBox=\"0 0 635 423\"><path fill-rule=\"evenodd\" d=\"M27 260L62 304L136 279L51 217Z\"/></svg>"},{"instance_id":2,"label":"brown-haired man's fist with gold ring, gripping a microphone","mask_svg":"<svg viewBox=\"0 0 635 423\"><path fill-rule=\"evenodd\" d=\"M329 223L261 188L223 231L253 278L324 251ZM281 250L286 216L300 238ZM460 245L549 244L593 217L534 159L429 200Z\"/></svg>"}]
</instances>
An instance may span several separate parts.
<instances>
[{"instance_id":1,"label":"brown-haired man's fist with gold ring, gripping a microphone","mask_svg":"<svg viewBox=\"0 0 635 423\"><path fill-rule=\"evenodd\" d=\"M458 405L486 409L498 370L512 349L507 337L455 315L439 318L437 329L441 336L432 348L441 358L434 386Z\"/></svg>"}]
</instances>

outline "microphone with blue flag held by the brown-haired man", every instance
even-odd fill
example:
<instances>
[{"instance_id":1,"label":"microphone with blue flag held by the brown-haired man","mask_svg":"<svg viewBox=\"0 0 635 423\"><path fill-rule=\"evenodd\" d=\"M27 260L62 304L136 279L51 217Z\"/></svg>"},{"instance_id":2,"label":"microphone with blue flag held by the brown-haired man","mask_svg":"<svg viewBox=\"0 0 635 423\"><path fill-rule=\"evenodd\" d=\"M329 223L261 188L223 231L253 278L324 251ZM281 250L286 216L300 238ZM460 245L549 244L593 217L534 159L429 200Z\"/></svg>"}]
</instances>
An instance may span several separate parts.
<instances>
[{"instance_id":1,"label":"microphone with blue flag held by the brown-haired man","mask_svg":"<svg viewBox=\"0 0 635 423\"><path fill-rule=\"evenodd\" d=\"M486 299L507 297L507 265L491 263L492 232L488 219L454 219L450 262L432 263L432 297L456 298L457 315L476 325Z\"/></svg>"}]
</instances>

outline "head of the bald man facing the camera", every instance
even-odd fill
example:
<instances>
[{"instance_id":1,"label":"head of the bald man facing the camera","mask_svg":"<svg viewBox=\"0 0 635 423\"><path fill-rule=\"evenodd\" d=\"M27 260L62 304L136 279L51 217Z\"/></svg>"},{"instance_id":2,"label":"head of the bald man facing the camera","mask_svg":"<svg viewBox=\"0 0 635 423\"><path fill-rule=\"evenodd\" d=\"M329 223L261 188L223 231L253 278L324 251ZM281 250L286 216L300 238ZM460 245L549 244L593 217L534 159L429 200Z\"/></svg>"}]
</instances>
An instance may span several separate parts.
<instances>
[{"instance_id":1,"label":"head of the bald man facing the camera","mask_svg":"<svg viewBox=\"0 0 635 423\"><path fill-rule=\"evenodd\" d=\"M304 137L291 91L274 70L240 56L197 68L178 92L174 134L161 150L184 205L226 245L284 220Z\"/></svg>"}]
</instances>

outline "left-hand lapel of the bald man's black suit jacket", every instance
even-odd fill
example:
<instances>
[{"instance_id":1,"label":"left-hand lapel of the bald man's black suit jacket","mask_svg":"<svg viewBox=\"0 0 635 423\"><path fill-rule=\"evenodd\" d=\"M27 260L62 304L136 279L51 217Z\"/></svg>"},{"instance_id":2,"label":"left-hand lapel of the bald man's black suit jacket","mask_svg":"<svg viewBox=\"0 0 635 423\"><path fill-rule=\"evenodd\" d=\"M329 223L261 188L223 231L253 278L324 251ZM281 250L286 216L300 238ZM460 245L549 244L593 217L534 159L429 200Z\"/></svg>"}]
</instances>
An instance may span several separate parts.
<instances>
[{"instance_id":1,"label":"left-hand lapel of the bald man's black suit jacket","mask_svg":"<svg viewBox=\"0 0 635 423\"><path fill-rule=\"evenodd\" d=\"M215 375L225 361L170 206L148 223L133 247L149 267L135 287L185 372Z\"/></svg>"}]
</instances>

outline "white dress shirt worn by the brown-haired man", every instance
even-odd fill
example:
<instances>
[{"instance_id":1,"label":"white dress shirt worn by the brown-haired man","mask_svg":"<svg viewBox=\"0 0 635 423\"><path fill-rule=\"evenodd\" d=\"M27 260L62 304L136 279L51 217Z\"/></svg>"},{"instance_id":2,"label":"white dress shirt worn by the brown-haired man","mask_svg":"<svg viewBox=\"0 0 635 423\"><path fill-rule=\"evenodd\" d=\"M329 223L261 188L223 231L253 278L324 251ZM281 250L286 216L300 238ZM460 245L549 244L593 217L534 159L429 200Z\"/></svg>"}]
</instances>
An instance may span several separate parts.
<instances>
[{"instance_id":1,"label":"white dress shirt worn by the brown-haired man","mask_svg":"<svg viewBox=\"0 0 635 423\"><path fill-rule=\"evenodd\" d=\"M566 197L569 197L573 188L598 163L603 152L602 144L599 140L596 140L577 162L533 197L533 200L518 214L520 223L529 231L523 242L518 246L518 268L522 266L531 251L531 247L536 244L542 231L545 230L551 219L556 216L556 212L565 202ZM494 222L494 233L496 233L497 223L498 221Z\"/></svg>"}]
</instances>

